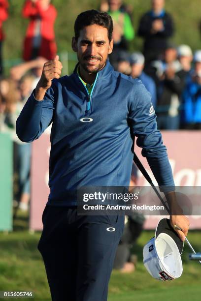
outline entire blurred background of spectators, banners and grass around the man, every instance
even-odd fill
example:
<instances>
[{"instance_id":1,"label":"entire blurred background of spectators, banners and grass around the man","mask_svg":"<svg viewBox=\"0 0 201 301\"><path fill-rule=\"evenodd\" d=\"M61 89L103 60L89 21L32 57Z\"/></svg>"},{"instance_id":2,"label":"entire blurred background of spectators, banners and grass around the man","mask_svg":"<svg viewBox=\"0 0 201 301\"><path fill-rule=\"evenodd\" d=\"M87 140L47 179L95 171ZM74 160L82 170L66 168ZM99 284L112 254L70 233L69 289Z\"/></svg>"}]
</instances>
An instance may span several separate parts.
<instances>
[{"instance_id":1,"label":"entire blurred background of spectators, banners and grass around the man","mask_svg":"<svg viewBox=\"0 0 201 301\"><path fill-rule=\"evenodd\" d=\"M34 300L51 300L37 250L49 193L51 127L30 144L18 139L15 123L47 60L59 54L62 75L73 72L77 57L71 38L80 12L98 9L111 15L111 64L139 78L151 93L175 184L201 186L200 7L200 0L0 0L0 290L32 290ZM136 152L155 181L141 150ZM135 165L131 185L148 185ZM145 271L142 248L160 218L126 217L109 301L178 301L184 294L187 301L200 300L200 267L188 260L188 247L178 280L159 283ZM190 219L189 240L199 251L201 217Z\"/></svg>"}]
</instances>

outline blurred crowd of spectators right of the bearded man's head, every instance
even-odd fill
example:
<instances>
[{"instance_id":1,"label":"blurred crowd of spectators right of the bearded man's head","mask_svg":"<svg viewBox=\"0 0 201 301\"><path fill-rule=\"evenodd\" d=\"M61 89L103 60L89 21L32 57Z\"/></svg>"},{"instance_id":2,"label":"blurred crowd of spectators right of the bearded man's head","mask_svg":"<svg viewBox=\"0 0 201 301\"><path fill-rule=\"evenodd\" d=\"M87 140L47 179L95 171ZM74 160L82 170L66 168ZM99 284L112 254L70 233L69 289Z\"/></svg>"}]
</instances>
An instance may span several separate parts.
<instances>
[{"instance_id":1,"label":"blurred crowd of spectators right of the bearded man's head","mask_svg":"<svg viewBox=\"0 0 201 301\"><path fill-rule=\"evenodd\" d=\"M103 0L114 25L114 51L110 62L114 69L142 81L151 93L159 129L201 128L201 50L194 56L189 45L174 45L172 16L165 0L150 0L134 31L131 7L122 0ZM134 32L143 39L141 52L129 53Z\"/></svg>"}]
</instances>

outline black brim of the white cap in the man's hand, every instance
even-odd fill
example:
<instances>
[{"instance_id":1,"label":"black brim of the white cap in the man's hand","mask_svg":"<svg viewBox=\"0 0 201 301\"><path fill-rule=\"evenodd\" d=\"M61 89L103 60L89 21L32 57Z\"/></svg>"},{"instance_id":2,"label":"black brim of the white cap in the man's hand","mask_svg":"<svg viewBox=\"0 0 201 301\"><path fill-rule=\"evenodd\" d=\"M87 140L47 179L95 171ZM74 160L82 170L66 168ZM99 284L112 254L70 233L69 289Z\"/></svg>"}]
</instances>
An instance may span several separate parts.
<instances>
[{"instance_id":1,"label":"black brim of the white cap in the man's hand","mask_svg":"<svg viewBox=\"0 0 201 301\"><path fill-rule=\"evenodd\" d=\"M156 232L155 232L155 240L159 236L160 233L168 234L176 243L179 253L181 255L184 247L184 242L180 240L178 234L174 231L174 229L170 225L170 221L168 218L163 218L159 221Z\"/></svg>"}]
</instances>

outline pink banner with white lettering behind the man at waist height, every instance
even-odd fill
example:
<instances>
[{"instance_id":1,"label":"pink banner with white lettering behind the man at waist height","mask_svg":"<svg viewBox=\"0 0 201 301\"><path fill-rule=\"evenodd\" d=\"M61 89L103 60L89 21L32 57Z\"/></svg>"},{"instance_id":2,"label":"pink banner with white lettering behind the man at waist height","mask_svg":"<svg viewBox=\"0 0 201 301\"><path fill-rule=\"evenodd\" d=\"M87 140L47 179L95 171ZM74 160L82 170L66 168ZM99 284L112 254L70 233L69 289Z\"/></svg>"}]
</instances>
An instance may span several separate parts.
<instances>
[{"instance_id":1,"label":"pink banner with white lettering behind the man at waist height","mask_svg":"<svg viewBox=\"0 0 201 301\"><path fill-rule=\"evenodd\" d=\"M201 186L201 132L200 131L164 131L164 144L167 147L169 161L172 167L176 186ZM50 153L49 134L43 134L33 142L32 152L32 198L30 229L41 230L41 216L49 195L48 163ZM154 184L157 185L146 158L141 155L141 149L135 145L135 152L146 168ZM138 185L149 183L139 172ZM155 229L162 216L147 216L146 229ZM201 229L201 217L189 216L190 229Z\"/></svg>"}]
</instances>

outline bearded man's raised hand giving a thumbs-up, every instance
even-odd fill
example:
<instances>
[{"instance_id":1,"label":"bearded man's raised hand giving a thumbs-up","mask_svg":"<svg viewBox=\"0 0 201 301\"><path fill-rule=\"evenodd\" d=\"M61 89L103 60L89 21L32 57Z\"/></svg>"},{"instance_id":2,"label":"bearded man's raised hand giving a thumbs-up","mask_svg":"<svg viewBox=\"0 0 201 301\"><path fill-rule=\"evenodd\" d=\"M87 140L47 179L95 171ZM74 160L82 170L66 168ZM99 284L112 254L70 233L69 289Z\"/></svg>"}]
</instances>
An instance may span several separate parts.
<instances>
[{"instance_id":1,"label":"bearded man's raised hand giving a thumbs-up","mask_svg":"<svg viewBox=\"0 0 201 301\"><path fill-rule=\"evenodd\" d=\"M60 78L62 68L63 66L61 61L59 61L59 56L56 56L54 60L48 60L44 63L41 78L35 88L35 99L43 100L45 92L52 85L52 80L54 78Z\"/></svg>"}]
</instances>

